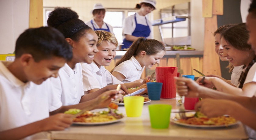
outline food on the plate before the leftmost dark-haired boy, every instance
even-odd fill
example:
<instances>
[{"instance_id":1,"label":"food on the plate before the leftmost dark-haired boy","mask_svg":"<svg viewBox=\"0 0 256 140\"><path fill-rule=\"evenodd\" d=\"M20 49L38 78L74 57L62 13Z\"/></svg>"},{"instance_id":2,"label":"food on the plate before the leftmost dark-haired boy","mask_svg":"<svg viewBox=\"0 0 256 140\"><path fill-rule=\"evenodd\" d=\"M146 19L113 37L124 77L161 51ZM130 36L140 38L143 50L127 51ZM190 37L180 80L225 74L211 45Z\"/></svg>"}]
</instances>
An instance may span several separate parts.
<instances>
[{"instance_id":1,"label":"food on the plate before the leftmost dark-haired boy","mask_svg":"<svg viewBox=\"0 0 256 140\"><path fill-rule=\"evenodd\" d=\"M75 110L75 111L74 111ZM66 114L76 114L81 110L78 109L70 109L66 111ZM122 121L124 119L123 114L117 113L117 110L111 111L98 111L98 112L91 112L86 111L83 114L77 116L73 119L73 124L80 124L80 125L103 125L103 124L112 124L115 122Z\"/></svg>"}]
</instances>

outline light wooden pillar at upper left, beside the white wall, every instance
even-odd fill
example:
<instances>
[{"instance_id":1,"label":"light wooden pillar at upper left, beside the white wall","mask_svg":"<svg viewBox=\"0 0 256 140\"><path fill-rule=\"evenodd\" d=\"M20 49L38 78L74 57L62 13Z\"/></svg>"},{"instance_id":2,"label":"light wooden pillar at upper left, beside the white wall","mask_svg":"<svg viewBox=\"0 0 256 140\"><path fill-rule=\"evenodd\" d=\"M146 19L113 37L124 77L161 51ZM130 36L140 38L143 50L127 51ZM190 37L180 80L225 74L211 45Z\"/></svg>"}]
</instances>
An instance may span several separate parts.
<instances>
[{"instance_id":1,"label":"light wooden pillar at upper left, beside the white wall","mask_svg":"<svg viewBox=\"0 0 256 140\"><path fill-rule=\"evenodd\" d=\"M43 25L43 0L30 0L29 28L37 28Z\"/></svg>"}]
</instances>

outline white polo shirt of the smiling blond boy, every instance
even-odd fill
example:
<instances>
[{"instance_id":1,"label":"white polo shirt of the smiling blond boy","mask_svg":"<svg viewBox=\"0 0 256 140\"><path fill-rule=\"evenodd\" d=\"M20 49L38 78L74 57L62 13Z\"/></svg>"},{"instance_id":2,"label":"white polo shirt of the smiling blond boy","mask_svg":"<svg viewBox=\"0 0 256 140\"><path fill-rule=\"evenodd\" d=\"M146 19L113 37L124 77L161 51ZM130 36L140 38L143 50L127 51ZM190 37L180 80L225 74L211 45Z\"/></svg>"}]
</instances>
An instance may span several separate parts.
<instances>
[{"instance_id":1,"label":"white polo shirt of the smiling blond boy","mask_svg":"<svg viewBox=\"0 0 256 140\"><path fill-rule=\"evenodd\" d=\"M91 64L81 63L83 69L84 91L101 89L108 85L123 84L116 79L104 66L100 68L93 61Z\"/></svg>"}]
</instances>

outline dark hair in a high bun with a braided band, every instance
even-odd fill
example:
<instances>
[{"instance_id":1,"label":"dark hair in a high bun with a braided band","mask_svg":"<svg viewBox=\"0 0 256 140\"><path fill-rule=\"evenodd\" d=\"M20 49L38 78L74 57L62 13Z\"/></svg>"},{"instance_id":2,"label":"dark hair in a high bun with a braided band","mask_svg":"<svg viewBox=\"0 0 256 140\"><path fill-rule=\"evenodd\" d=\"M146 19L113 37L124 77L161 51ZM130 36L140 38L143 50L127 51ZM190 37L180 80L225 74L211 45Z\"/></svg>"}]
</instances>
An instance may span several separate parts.
<instances>
[{"instance_id":1,"label":"dark hair in a high bun with a braided band","mask_svg":"<svg viewBox=\"0 0 256 140\"><path fill-rule=\"evenodd\" d=\"M78 41L85 35L86 30L91 30L82 20L78 19L78 14L64 7L57 7L49 13L48 26L58 29L65 38Z\"/></svg>"}]
</instances>

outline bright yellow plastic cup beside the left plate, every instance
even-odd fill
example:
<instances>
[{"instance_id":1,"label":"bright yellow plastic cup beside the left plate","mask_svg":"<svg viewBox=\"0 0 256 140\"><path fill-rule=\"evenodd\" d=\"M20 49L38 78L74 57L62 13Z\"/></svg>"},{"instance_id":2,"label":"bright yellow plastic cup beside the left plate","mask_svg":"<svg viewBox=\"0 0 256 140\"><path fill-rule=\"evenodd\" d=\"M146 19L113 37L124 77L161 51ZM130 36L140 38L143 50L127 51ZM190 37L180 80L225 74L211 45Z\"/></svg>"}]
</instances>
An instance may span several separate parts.
<instances>
[{"instance_id":1,"label":"bright yellow plastic cup beside the left plate","mask_svg":"<svg viewBox=\"0 0 256 140\"><path fill-rule=\"evenodd\" d=\"M144 105L144 97L128 96L123 98L127 117L140 117Z\"/></svg>"}]
</instances>

